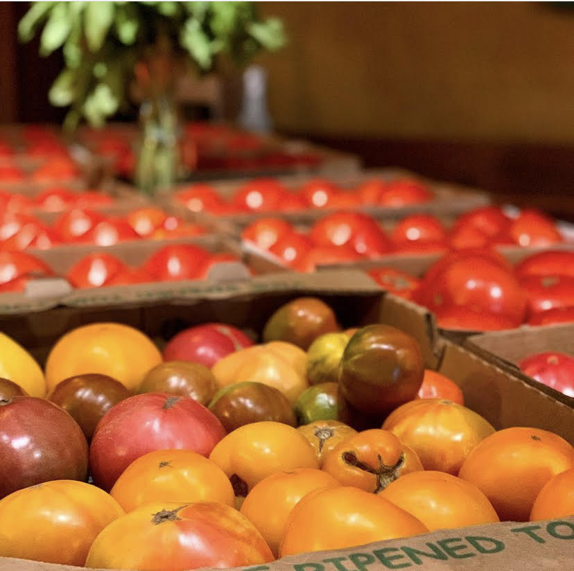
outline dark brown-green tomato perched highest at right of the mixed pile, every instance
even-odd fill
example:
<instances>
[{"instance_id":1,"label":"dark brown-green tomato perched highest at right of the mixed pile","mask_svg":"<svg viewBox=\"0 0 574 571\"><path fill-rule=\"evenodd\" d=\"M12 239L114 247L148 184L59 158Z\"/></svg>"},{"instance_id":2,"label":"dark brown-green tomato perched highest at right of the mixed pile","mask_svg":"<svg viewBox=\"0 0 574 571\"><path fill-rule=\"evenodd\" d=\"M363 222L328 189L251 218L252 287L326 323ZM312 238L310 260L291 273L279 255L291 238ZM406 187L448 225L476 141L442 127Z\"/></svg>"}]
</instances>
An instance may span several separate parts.
<instances>
[{"instance_id":1,"label":"dark brown-green tomato perched highest at right of the mixed pile","mask_svg":"<svg viewBox=\"0 0 574 571\"><path fill-rule=\"evenodd\" d=\"M415 398L423 374L421 349L414 337L388 325L369 325L345 347L339 387L353 407L379 415Z\"/></svg>"}]
</instances>

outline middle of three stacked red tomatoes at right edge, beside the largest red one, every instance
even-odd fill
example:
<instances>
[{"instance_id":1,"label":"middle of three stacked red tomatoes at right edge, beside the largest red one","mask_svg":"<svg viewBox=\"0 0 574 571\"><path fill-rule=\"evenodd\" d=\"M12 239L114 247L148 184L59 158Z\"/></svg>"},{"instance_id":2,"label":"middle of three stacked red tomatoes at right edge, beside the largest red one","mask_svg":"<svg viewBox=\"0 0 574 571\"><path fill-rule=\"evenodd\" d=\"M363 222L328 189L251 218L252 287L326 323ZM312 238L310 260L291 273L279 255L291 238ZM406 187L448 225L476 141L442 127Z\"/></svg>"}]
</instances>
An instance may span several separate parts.
<instances>
[{"instance_id":1,"label":"middle of three stacked red tomatoes at right edge, beside the largest red one","mask_svg":"<svg viewBox=\"0 0 574 571\"><path fill-rule=\"evenodd\" d=\"M520 280L528 300L528 313L574 307L574 276L527 276Z\"/></svg>"}]
</instances>

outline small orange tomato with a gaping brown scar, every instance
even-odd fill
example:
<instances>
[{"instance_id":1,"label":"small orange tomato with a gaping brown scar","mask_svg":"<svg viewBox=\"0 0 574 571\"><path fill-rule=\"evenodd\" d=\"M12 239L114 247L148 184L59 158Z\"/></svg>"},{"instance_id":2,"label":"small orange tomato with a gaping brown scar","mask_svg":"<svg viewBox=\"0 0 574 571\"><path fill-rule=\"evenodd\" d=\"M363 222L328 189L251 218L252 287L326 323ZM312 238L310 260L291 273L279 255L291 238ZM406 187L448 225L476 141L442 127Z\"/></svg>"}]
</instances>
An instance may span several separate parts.
<instances>
[{"instance_id":1,"label":"small orange tomato with a gaping brown scar","mask_svg":"<svg viewBox=\"0 0 574 571\"><path fill-rule=\"evenodd\" d=\"M373 428L342 441L322 469L344 486L379 493L404 474L422 470L419 457L392 432Z\"/></svg>"}]
</instances>

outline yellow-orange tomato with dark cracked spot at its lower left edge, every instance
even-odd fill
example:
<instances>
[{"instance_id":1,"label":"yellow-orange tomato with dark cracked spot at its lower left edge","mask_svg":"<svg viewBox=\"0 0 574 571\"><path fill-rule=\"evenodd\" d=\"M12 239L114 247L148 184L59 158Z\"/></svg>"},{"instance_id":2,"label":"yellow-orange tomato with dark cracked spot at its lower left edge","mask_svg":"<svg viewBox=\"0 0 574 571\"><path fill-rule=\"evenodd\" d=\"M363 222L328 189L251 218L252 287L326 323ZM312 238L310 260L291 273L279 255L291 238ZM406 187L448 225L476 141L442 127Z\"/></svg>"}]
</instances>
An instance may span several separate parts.
<instances>
[{"instance_id":1,"label":"yellow-orange tomato with dark cracked spot at its lower left edge","mask_svg":"<svg viewBox=\"0 0 574 571\"><path fill-rule=\"evenodd\" d=\"M245 424L229 432L209 459L227 474L238 496L246 496L272 473L319 467L313 447L301 432L270 421Z\"/></svg>"}]
</instances>

